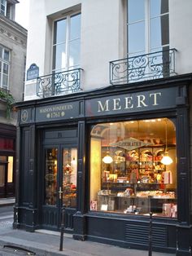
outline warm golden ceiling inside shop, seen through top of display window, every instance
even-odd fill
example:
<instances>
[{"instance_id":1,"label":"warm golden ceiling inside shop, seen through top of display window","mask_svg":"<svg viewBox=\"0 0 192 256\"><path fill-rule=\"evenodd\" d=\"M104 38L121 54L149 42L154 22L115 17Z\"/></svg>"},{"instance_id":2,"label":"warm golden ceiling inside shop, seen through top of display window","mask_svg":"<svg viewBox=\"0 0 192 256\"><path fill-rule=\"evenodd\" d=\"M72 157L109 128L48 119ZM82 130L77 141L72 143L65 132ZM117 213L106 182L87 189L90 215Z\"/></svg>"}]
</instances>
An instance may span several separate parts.
<instances>
[{"instance_id":1,"label":"warm golden ceiling inside shop, seen through top of display window","mask_svg":"<svg viewBox=\"0 0 192 256\"><path fill-rule=\"evenodd\" d=\"M106 143L114 142L116 139L134 138L141 140L154 140L154 143L165 144L167 126L168 144L176 143L176 130L172 121L167 118L140 121L122 121L116 123L105 123L94 126L92 135L100 134ZM109 141L110 140L110 141ZM103 141L103 143L105 143Z\"/></svg>"}]
</instances>

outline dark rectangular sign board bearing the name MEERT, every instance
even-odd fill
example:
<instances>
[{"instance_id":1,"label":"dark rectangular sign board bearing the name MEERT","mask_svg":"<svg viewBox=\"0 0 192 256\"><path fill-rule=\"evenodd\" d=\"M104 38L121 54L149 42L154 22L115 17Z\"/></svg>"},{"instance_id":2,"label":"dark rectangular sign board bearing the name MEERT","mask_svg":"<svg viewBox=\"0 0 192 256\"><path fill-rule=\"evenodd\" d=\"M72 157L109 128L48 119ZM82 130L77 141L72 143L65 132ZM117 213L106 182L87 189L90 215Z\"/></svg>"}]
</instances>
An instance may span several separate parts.
<instances>
[{"instance_id":1,"label":"dark rectangular sign board bearing the name MEERT","mask_svg":"<svg viewBox=\"0 0 192 256\"><path fill-rule=\"evenodd\" d=\"M85 102L86 117L175 108L177 88L146 90L124 95L105 96Z\"/></svg>"}]
</instances>

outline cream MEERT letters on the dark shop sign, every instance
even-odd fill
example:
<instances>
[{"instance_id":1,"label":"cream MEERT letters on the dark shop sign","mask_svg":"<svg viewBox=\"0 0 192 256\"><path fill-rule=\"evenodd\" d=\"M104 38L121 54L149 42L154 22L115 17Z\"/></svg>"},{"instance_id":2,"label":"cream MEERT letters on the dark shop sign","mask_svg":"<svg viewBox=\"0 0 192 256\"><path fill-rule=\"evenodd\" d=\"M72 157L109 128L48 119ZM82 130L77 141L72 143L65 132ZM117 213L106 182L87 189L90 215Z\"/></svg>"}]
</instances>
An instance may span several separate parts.
<instances>
[{"instance_id":1,"label":"cream MEERT letters on the dark shop sign","mask_svg":"<svg viewBox=\"0 0 192 256\"><path fill-rule=\"evenodd\" d=\"M147 108L159 105L161 92L150 93L149 95L135 95L124 97L123 99L106 99L105 101L98 100L98 112L116 111L129 108ZM134 101L133 101L134 100Z\"/></svg>"}]
</instances>

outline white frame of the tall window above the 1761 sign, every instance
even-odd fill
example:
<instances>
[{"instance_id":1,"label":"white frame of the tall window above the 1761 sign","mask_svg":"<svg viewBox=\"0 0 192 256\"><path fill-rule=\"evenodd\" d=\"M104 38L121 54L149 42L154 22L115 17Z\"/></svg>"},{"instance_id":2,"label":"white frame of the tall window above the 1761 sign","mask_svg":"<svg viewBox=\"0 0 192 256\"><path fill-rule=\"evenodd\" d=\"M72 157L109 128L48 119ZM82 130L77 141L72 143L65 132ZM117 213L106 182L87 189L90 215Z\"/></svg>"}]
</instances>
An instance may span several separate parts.
<instances>
[{"instance_id":1,"label":"white frame of the tall window above the 1761 sign","mask_svg":"<svg viewBox=\"0 0 192 256\"><path fill-rule=\"evenodd\" d=\"M54 20L53 22L53 39L52 39L52 73L57 73L57 72L62 72L62 71L67 71L67 70L72 70L75 68L80 68L80 63L76 64L74 66L72 66L72 68L69 67L69 46L70 46L70 42L73 40L79 40L80 38L75 38L70 40L70 26L71 26L71 17L75 16L75 15L81 15L81 11L76 11L74 13L71 13L69 15L63 16L62 19L57 19ZM66 20L66 46L65 46L65 52L66 52L66 68L54 68L54 60L55 60L55 55L54 55L54 46L57 45L57 43L54 43L54 39L55 39L55 22L59 21L59 20ZM59 43L60 44L60 43ZM58 44L58 45L59 45Z\"/></svg>"}]
</instances>

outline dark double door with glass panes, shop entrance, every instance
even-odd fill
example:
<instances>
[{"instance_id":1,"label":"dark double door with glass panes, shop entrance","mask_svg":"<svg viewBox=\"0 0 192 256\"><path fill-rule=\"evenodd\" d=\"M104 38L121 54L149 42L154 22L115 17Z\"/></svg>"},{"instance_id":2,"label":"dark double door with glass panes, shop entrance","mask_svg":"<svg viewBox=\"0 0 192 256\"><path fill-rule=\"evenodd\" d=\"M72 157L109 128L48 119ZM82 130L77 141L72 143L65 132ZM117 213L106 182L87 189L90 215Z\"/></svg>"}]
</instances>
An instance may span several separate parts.
<instances>
[{"instance_id":1,"label":"dark double door with glass panes, shop entrance","mask_svg":"<svg viewBox=\"0 0 192 256\"><path fill-rule=\"evenodd\" d=\"M76 212L77 148L71 143L46 145L44 156L43 225L58 229L64 207L64 226L70 232L73 229L73 214Z\"/></svg>"}]
</instances>

